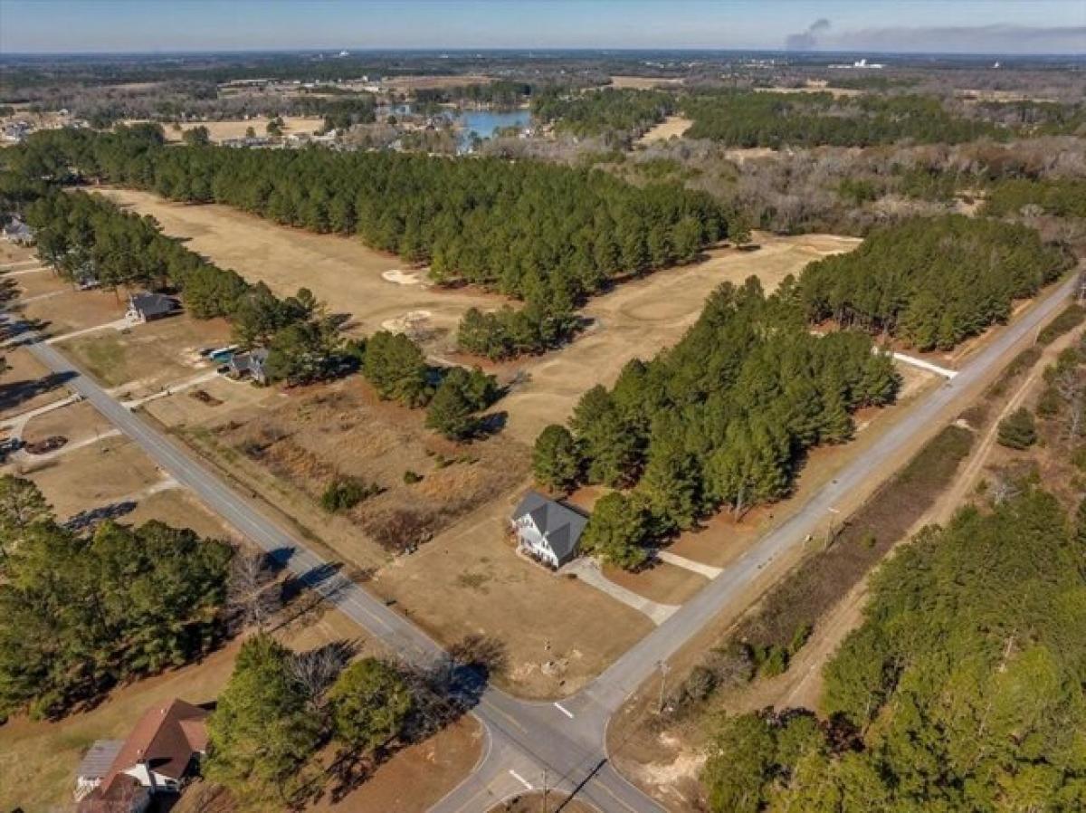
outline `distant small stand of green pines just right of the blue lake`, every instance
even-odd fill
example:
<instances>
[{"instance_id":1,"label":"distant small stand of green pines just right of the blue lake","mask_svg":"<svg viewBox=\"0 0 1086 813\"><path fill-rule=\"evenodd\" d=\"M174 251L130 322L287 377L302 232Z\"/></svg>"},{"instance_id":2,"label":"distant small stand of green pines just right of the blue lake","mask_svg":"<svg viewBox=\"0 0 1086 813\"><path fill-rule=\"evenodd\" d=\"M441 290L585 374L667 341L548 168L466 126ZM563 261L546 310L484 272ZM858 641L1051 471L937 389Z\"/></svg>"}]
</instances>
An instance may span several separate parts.
<instances>
[{"instance_id":1,"label":"distant small stand of green pines just right of the blue lake","mask_svg":"<svg viewBox=\"0 0 1086 813\"><path fill-rule=\"evenodd\" d=\"M553 88L535 95L532 113L574 136L636 136L675 111L674 95L659 90L604 88L584 92Z\"/></svg>"}]
</instances>

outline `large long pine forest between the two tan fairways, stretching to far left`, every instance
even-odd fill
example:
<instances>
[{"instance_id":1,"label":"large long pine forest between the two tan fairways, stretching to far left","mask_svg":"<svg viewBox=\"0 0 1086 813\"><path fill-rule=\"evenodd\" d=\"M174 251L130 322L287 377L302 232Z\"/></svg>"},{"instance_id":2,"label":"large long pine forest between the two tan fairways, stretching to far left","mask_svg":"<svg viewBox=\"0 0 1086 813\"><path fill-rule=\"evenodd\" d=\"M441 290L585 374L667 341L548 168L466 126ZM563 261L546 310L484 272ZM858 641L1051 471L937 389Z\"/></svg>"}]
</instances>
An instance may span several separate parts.
<instances>
[{"instance_id":1,"label":"large long pine forest between the two tan fairways, stretching to far left","mask_svg":"<svg viewBox=\"0 0 1086 813\"><path fill-rule=\"evenodd\" d=\"M637 188L599 171L389 152L167 149L146 125L37 136L13 160L24 177L102 177L313 232L357 234L430 263L438 282L525 300L517 330L508 320L482 322L492 336L469 350L485 347L488 355L548 349L569 337L585 297L616 278L689 262L727 234L721 208L704 192ZM478 337L478 327L467 335Z\"/></svg>"}]
</instances>

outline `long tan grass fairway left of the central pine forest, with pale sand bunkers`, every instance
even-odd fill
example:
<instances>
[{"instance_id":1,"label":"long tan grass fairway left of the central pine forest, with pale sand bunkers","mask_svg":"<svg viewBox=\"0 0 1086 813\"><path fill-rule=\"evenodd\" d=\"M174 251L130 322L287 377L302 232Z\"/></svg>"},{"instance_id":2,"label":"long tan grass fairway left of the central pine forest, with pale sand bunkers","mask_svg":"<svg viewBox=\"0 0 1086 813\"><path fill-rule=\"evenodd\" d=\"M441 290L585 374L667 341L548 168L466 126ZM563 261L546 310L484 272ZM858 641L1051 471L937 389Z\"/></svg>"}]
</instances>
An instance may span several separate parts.
<instances>
[{"instance_id":1,"label":"long tan grass fairway left of the central pine forest, with pale sand bunkers","mask_svg":"<svg viewBox=\"0 0 1086 813\"><path fill-rule=\"evenodd\" d=\"M190 238L186 246L245 279L264 282L278 296L310 288L336 311L351 315L350 328L380 330L412 311L429 311L420 329L434 349L452 343L468 308L493 308L504 298L481 292L399 285L382 275L407 271L403 261L366 248L354 238L317 235L278 226L222 205L187 205L148 192L106 189L102 193L140 214L150 214L166 234ZM444 342L440 340L444 338Z\"/></svg>"}]
</instances>

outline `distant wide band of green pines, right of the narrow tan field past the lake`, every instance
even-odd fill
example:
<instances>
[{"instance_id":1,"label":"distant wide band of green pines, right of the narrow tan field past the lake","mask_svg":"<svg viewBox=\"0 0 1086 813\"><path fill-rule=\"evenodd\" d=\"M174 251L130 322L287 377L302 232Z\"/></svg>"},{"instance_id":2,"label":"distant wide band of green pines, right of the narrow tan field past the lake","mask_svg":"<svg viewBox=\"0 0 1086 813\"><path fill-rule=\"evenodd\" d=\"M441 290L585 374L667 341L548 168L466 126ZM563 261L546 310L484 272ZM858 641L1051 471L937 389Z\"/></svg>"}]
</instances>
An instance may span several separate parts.
<instances>
[{"instance_id":1,"label":"distant wide band of green pines, right of the narrow tan field past the lake","mask_svg":"<svg viewBox=\"0 0 1086 813\"><path fill-rule=\"evenodd\" d=\"M768 93L752 90L698 91L682 101L694 120L687 138L730 147L871 147L913 141L960 143L981 137L1006 139L1011 130L948 113L927 96Z\"/></svg>"}]
</instances>

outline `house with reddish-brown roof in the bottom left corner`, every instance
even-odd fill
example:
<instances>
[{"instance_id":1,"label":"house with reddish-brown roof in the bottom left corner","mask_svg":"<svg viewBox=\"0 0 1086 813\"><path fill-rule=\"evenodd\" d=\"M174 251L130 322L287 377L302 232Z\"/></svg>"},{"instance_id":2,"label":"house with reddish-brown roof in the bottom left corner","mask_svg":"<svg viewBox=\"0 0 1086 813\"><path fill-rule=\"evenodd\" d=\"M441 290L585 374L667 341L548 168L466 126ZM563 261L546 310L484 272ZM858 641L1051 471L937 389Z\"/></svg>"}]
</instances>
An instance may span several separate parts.
<instances>
[{"instance_id":1,"label":"house with reddish-brown roof in the bottom left corner","mask_svg":"<svg viewBox=\"0 0 1086 813\"><path fill-rule=\"evenodd\" d=\"M119 748L96 742L79 766L78 813L143 813L156 793L177 793L207 750L209 712L174 700L149 710ZM113 754L109 768L105 758ZM81 795L80 795L81 789Z\"/></svg>"}]
</instances>

